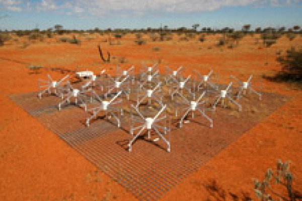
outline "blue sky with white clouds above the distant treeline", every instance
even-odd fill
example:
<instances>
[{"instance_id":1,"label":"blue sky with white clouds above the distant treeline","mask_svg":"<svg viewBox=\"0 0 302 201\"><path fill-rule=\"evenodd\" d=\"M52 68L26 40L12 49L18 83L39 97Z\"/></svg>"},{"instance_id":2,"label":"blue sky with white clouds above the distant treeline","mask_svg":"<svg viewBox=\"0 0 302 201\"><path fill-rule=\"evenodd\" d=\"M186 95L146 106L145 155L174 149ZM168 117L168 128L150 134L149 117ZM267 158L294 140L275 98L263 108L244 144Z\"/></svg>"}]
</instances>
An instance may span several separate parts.
<instances>
[{"instance_id":1,"label":"blue sky with white clouds above the distant treeline","mask_svg":"<svg viewBox=\"0 0 302 201\"><path fill-rule=\"evenodd\" d=\"M302 0L0 0L0 29L302 27Z\"/></svg>"}]
</instances>

